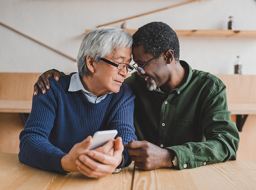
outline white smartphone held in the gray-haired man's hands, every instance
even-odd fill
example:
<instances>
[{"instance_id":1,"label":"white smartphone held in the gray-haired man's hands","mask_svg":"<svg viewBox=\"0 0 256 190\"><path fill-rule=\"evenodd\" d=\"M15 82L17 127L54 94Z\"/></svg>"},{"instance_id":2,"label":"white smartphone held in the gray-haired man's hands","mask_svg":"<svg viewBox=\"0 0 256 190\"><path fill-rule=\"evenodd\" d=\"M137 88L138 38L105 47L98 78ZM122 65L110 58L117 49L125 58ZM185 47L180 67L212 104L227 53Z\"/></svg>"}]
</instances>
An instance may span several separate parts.
<instances>
[{"instance_id":1,"label":"white smartphone held in the gray-haired man's hands","mask_svg":"<svg viewBox=\"0 0 256 190\"><path fill-rule=\"evenodd\" d=\"M98 148L100 146L103 146L106 144L109 140L114 139L117 135L117 131L114 130L106 130L106 131L97 131L92 136L92 145L89 146L88 150L93 150L95 148Z\"/></svg>"}]
</instances>

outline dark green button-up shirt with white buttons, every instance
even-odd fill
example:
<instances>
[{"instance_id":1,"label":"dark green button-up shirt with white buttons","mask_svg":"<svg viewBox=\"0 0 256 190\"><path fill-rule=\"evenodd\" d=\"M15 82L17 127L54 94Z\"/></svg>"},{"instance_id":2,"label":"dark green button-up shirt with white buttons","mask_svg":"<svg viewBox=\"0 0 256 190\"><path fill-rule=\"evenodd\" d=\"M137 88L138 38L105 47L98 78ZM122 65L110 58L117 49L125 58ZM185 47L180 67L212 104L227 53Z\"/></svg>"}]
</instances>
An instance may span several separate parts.
<instances>
[{"instance_id":1,"label":"dark green button-up shirt with white buttons","mask_svg":"<svg viewBox=\"0 0 256 190\"><path fill-rule=\"evenodd\" d=\"M137 73L125 79L133 93L134 127L138 140L173 150L179 168L236 160L239 134L230 121L226 86L216 76L188 70L186 82L169 94L149 91Z\"/></svg>"}]
</instances>

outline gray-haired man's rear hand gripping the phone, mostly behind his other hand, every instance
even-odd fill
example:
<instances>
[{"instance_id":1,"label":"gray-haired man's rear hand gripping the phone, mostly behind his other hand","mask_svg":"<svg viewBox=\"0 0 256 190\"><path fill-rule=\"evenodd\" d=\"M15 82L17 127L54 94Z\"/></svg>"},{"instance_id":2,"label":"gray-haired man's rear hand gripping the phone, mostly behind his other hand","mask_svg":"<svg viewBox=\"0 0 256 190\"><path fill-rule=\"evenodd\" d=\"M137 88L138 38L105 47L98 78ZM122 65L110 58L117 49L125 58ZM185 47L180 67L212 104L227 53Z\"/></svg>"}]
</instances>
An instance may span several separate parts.
<instances>
[{"instance_id":1,"label":"gray-haired man's rear hand gripping the phone, mostly behind his other hand","mask_svg":"<svg viewBox=\"0 0 256 190\"><path fill-rule=\"evenodd\" d=\"M89 151L87 148L92 145L92 141L92 136L89 136L82 142L75 144L69 153L61 158L61 166L63 170L68 172L79 171L77 169L76 160L78 160L80 155ZM95 149L95 151L100 151L102 154L113 155L114 143L115 139L109 140L105 145Z\"/></svg>"}]
</instances>

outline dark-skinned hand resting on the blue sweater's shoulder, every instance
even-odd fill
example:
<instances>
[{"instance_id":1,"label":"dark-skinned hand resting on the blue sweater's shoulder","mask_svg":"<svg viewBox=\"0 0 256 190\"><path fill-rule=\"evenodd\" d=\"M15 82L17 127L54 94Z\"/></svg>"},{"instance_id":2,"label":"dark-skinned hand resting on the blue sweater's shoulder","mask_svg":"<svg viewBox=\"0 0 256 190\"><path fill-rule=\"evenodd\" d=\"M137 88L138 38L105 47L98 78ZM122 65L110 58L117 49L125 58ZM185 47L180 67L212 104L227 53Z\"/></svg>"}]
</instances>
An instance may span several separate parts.
<instances>
[{"instance_id":1,"label":"dark-skinned hand resting on the blue sweater's shoulder","mask_svg":"<svg viewBox=\"0 0 256 190\"><path fill-rule=\"evenodd\" d=\"M46 89L50 88L49 77L54 77L56 81L59 80L60 74L54 71L48 71L38 77L37 82L34 85L34 96L38 93L38 88L41 89L43 94L46 93Z\"/></svg>"}]
</instances>

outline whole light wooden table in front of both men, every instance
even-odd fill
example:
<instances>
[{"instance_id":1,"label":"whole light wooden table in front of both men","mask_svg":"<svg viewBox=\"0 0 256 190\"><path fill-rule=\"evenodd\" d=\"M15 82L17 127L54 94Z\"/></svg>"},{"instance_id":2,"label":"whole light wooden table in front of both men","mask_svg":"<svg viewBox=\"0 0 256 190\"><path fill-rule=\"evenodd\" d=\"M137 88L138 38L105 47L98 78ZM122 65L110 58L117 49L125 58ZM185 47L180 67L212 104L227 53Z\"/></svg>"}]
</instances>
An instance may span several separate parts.
<instances>
[{"instance_id":1,"label":"whole light wooden table in front of both men","mask_svg":"<svg viewBox=\"0 0 256 190\"><path fill-rule=\"evenodd\" d=\"M0 153L0 190L11 189L256 189L256 161L228 161L194 169L144 171L133 164L120 173L94 179L32 168L18 154Z\"/></svg>"}]
</instances>

